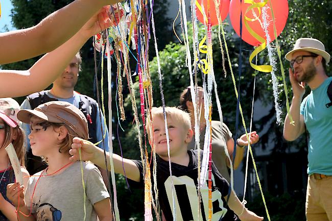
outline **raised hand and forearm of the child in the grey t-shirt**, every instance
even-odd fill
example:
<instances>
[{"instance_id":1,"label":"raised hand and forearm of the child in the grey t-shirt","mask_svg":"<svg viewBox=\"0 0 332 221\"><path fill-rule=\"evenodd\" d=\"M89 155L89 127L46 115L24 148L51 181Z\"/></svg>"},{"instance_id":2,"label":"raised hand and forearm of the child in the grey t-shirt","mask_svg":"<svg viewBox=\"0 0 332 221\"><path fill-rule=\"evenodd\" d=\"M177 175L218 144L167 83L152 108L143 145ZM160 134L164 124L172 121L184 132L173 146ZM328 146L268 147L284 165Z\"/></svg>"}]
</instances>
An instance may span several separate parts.
<instances>
[{"instance_id":1,"label":"raised hand and forearm of the child in the grey t-shirt","mask_svg":"<svg viewBox=\"0 0 332 221\"><path fill-rule=\"evenodd\" d=\"M30 214L26 202L24 200L24 186L20 186L19 183L10 183L7 186L7 198L10 200L17 209L18 220L21 221L35 221L33 214ZM25 216L28 215L28 216ZM14 219L15 220L15 219Z\"/></svg>"}]
</instances>

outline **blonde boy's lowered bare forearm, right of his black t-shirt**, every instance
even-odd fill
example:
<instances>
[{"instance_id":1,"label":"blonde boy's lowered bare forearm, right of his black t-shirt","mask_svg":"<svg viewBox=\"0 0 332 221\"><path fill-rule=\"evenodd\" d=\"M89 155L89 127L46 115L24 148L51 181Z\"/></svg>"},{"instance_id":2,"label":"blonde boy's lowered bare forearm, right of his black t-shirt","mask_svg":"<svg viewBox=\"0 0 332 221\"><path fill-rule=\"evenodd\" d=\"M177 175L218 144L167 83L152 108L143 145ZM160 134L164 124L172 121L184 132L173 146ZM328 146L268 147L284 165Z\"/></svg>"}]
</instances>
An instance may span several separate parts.
<instances>
[{"instance_id":1,"label":"blonde boy's lowered bare forearm, right of his black t-shirt","mask_svg":"<svg viewBox=\"0 0 332 221\"><path fill-rule=\"evenodd\" d=\"M225 201L227 201L227 195L224 197ZM257 216L254 212L251 212L247 208L242 205L239 198L236 196L236 194L231 191L229 200L228 200L228 206L231 210L234 211L236 215L239 216L241 221L260 221L263 220L263 217Z\"/></svg>"}]
</instances>

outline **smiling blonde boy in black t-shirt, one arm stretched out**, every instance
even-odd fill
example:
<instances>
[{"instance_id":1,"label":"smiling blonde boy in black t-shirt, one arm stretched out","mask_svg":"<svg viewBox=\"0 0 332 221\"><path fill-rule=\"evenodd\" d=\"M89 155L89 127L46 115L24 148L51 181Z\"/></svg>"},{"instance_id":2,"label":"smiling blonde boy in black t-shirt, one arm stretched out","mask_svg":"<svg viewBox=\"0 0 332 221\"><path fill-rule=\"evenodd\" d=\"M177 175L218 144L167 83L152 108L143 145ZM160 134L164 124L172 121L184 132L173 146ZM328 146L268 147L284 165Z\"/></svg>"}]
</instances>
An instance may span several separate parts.
<instances>
[{"instance_id":1,"label":"smiling blonde boy in black t-shirt, one arm stretched out","mask_svg":"<svg viewBox=\"0 0 332 221\"><path fill-rule=\"evenodd\" d=\"M191 119L188 113L175 107L166 107L167 125L170 141L170 158L172 162L172 178L174 184L174 200L176 206L175 220L207 220L208 216L208 189L207 186L201 188L202 203L201 214L198 214L198 152L187 150L188 143L193 138L191 129ZM165 132L165 122L162 108L152 108L152 130L148 127L150 143L154 141L157 156L157 187L160 207L166 220L173 220L173 199L172 184L169 170L169 157L167 150L167 138ZM152 139L153 137L153 139ZM74 138L73 150L69 153L74 155L72 160L79 159L78 150L82 148L82 156L85 160L91 160L99 166L104 166L104 156L101 149L92 144L88 144L82 139ZM115 172L124 174L122 159L113 154ZM141 161L124 159L124 168L127 177L140 186L144 186L143 165ZM151 166L152 168L152 166ZM219 174L215 165L212 165L212 220L220 220L227 214L226 201L229 184ZM137 183L136 183L137 184ZM231 192L228 206L238 214L242 221L258 221L259 217L253 212L244 208L236 195ZM204 218L203 218L204 217Z\"/></svg>"}]
</instances>

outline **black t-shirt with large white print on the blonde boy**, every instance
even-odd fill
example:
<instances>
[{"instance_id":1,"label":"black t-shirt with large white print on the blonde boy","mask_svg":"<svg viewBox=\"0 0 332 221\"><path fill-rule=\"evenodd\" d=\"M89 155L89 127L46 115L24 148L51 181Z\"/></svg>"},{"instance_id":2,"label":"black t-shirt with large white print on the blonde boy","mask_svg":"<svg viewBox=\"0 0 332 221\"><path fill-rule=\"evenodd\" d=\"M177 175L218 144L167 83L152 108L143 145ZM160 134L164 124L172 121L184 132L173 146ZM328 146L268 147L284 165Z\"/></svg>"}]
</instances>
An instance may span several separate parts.
<instances>
[{"instance_id":1,"label":"black t-shirt with large white print on the blonde boy","mask_svg":"<svg viewBox=\"0 0 332 221\"><path fill-rule=\"evenodd\" d=\"M197 150L188 150L189 164L188 166L172 163L172 176L175 186L174 200L177 221L197 220L198 213L198 152ZM201 151L202 157L202 151ZM173 220L173 199L172 199L172 184L170 177L169 162L164 161L159 156L156 156L157 161L157 187L158 200L161 210L166 220ZM130 181L132 186L144 188L143 165L139 160L133 160L137 165L141 177L140 182ZM153 165L151 165L151 180ZM208 187L206 185L201 188L201 213L200 220L208 219ZM216 166L212 163L212 219L219 220L234 220L234 213L227 212L229 208L223 197L228 194L229 184L224 179ZM227 213L226 213L227 212ZM226 214L226 215L225 215Z\"/></svg>"}]
</instances>

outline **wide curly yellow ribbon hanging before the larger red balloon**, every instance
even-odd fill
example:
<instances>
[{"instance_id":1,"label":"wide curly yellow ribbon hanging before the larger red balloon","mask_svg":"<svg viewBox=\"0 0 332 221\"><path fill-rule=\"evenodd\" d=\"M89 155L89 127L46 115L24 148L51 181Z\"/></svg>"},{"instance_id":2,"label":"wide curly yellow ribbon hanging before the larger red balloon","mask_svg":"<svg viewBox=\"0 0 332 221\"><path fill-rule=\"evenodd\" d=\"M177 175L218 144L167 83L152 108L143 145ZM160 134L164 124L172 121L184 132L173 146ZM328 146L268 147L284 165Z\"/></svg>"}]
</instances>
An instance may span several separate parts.
<instances>
[{"instance_id":1,"label":"wide curly yellow ribbon hanging before the larger red balloon","mask_svg":"<svg viewBox=\"0 0 332 221\"><path fill-rule=\"evenodd\" d=\"M263 37L260 37L256 32L254 32L249 24L248 24L248 21L255 21L258 19L257 18L249 18L246 16L246 14L250 11L250 10L253 10L255 8L258 9L259 11L259 14L260 14L260 8L263 8L266 4L267 4L267 0L265 0L264 2L260 2L260 3L255 3L253 0L245 0L244 3L247 3L247 4L251 4L251 6L249 6L245 12L245 20L244 20L244 24L248 30L248 32L254 37L256 38L260 43L258 47L255 48L255 50L251 53L251 55L249 56L249 63L250 63L250 66L252 68L254 68L255 70L258 70L258 71L262 71L262 72L266 72L266 73L269 73L272 71L272 66L271 65L256 65L252 62L252 60L255 58L256 55L258 55L258 53L264 51L264 49L266 48L266 39L264 39Z\"/></svg>"}]
</instances>

